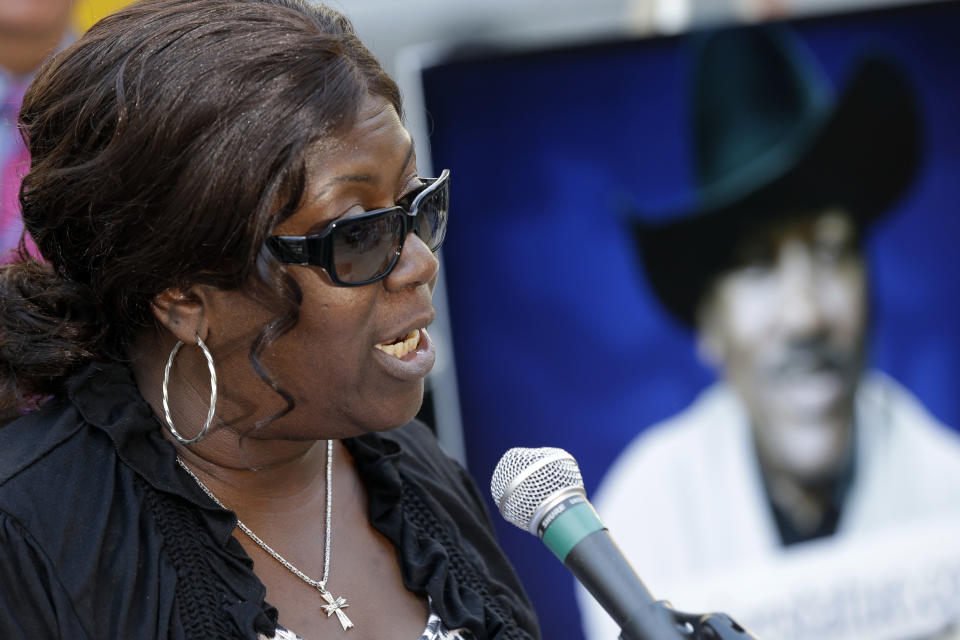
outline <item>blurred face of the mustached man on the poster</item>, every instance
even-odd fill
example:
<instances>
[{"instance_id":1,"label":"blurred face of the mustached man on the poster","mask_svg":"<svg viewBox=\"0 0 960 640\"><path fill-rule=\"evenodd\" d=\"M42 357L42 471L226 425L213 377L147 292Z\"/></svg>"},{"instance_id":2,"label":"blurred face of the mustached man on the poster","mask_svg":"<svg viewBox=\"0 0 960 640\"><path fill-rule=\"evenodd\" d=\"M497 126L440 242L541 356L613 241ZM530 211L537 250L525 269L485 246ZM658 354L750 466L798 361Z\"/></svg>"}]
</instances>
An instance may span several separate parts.
<instances>
[{"instance_id":1,"label":"blurred face of the mustached man on the poster","mask_svg":"<svg viewBox=\"0 0 960 640\"><path fill-rule=\"evenodd\" d=\"M761 460L805 480L843 464L863 367L867 275L828 209L746 236L700 314L700 346L746 404Z\"/></svg>"}]
</instances>

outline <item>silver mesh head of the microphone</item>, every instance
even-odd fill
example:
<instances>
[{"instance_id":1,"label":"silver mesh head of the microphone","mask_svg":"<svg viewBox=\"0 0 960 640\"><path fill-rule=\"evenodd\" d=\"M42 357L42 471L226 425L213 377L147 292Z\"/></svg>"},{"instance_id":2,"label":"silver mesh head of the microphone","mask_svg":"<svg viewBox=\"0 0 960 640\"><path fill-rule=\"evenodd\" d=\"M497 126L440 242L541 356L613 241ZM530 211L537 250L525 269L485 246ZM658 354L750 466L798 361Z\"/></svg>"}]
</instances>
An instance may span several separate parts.
<instances>
[{"instance_id":1,"label":"silver mesh head of the microphone","mask_svg":"<svg viewBox=\"0 0 960 640\"><path fill-rule=\"evenodd\" d=\"M501 515L537 534L537 525L555 498L584 493L580 467L572 455L556 447L514 447L500 458L490 480L490 493Z\"/></svg>"}]
</instances>

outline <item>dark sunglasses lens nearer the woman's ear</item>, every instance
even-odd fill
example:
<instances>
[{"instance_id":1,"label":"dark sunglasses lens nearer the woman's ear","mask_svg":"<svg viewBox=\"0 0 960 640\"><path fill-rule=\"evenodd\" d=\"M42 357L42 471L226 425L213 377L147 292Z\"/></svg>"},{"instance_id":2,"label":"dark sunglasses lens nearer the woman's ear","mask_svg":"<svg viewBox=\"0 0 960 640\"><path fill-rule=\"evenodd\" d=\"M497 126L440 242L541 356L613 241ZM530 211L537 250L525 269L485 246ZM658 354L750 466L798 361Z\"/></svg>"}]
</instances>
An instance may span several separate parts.
<instances>
[{"instance_id":1,"label":"dark sunglasses lens nearer the woman's ear","mask_svg":"<svg viewBox=\"0 0 960 640\"><path fill-rule=\"evenodd\" d=\"M399 210L367 220L347 221L333 232L333 268L341 282L372 280L397 261L403 234Z\"/></svg>"}]
</instances>

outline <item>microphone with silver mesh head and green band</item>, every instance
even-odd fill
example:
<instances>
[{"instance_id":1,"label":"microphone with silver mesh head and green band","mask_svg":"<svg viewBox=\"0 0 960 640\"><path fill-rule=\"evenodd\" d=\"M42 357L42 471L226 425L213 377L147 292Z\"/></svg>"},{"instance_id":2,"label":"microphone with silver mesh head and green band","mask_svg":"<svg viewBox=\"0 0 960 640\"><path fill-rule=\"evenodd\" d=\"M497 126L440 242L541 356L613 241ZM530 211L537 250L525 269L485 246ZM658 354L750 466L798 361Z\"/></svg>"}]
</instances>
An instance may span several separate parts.
<instances>
[{"instance_id":1,"label":"microphone with silver mesh head and green band","mask_svg":"<svg viewBox=\"0 0 960 640\"><path fill-rule=\"evenodd\" d=\"M587 501L577 461L563 449L514 447L490 492L501 515L544 544L620 626L622 640L676 640L670 612L653 599Z\"/></svg>"}]
</instances>

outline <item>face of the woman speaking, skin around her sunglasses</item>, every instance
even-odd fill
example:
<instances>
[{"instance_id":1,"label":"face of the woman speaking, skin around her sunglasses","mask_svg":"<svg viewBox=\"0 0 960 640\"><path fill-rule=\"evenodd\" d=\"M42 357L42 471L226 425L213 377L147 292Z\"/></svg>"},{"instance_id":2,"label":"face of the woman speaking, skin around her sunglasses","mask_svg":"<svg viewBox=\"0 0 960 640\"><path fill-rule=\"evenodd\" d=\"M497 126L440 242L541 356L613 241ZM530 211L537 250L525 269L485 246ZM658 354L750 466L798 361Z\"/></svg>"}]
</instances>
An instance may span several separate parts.
<instances>
[{"instance_id":1,"label":"face of the woman speaking, skin around her sunglasses","mask_svg":"<svg viewBox=\"0 0 960 640\"><path fill-rule=\"evenodd\" d=\"M302 208L274 234L319 233L334 220L393 206L420 185L410 135L393 107L379 98L367 99L346 135L315 148L307 175ZM373 284L338 287L319 267L288 266L303 291L300 318L261 359L295 407L246 435L348 437L390 429L416 415L434 362L425 327L434 317L438 268L437 257L414 234L393 271ZM247 432L256 420L286 406L248 357L253 339L281 310L266 309L240 291L217 290L204 312L220 378L217 416ZM405 346L387 346L404 337Z\"/></svg>"}]
</instances>

